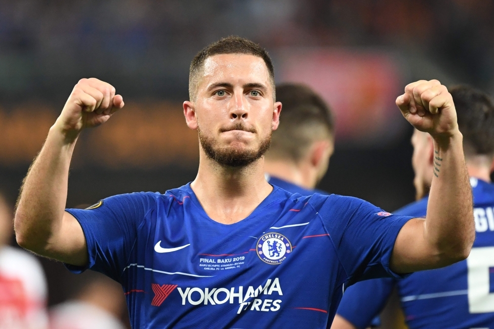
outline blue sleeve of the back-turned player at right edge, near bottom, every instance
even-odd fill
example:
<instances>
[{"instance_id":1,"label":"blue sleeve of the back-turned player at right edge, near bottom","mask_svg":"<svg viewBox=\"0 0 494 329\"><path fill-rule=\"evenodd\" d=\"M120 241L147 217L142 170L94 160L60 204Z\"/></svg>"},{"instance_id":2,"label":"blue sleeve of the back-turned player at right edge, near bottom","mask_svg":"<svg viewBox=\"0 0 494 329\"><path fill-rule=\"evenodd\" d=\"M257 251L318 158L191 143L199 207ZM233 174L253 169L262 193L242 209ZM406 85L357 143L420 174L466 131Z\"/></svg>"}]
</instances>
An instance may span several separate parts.
<instances>
[{"instance_id":1,"label":"blue sleeve of the back-turned player at right edge, near bottom","mask_svg":"<svg viewBox=\"0 0 494 329\"><path fill-rule=\"evenodd\" d=\"M373 279L348 287L336 313L358 329L368 328L386 305L395 282L392 278Z\"/></svg>"}]
</instances>

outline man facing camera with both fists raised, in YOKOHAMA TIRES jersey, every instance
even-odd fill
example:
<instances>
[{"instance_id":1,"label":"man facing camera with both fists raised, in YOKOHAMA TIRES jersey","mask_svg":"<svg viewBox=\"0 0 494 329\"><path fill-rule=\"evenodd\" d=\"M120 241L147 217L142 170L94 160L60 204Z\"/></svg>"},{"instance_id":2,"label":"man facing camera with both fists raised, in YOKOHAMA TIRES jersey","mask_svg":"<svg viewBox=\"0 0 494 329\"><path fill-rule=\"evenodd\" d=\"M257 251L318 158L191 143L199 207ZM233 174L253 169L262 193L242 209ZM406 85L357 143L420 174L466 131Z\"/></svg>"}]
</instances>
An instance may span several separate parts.
<instances>
[{"instance_id":1,"label":"man facing camera with both fists raised, in YOKOHAMA TIRES jersey","mask_svg":"<svg viewBox=\"0 0 494 329\"><path fill-rule=\"evenodd\" d=\"M79 134L124 105L110 84L82 79L15 214L21 246L119 281L133 328L326 328L345 285L468 256L471 190L453 100L440 82L411 83L397 99L441 158L425 219L356 198L292 195L266 181L263 155L282 104L271 59L257 44L229 37L206 46L192 61L189 93L185 120L200 141L192 183L65 210Z\"/></svg>"}]
</instances>

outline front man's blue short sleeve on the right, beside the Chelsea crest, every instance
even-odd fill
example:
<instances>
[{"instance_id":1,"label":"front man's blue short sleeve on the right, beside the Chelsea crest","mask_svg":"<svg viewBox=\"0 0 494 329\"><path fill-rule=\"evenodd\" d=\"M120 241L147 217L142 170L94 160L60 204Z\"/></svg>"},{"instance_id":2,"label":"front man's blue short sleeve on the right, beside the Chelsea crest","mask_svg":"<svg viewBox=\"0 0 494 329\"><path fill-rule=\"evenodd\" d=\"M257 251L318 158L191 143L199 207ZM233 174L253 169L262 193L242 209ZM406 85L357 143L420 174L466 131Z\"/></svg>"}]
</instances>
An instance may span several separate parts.
<instances>
[{"instance_id":1,"label":"front man's blue short sleeve on the right, beside the Chelsea crest","mask_svg":"<svg viewBox=\"0 0 494 329\"><path fill-rule=\"evenodd\" d=\"M314 199L314 200L312 200ZM336 248L348 280L345 286L372 278L402 278L389 262L396 237L411 216L398 216L352 197L315 195L323 225Z\"/></svg>"}]
</instances>

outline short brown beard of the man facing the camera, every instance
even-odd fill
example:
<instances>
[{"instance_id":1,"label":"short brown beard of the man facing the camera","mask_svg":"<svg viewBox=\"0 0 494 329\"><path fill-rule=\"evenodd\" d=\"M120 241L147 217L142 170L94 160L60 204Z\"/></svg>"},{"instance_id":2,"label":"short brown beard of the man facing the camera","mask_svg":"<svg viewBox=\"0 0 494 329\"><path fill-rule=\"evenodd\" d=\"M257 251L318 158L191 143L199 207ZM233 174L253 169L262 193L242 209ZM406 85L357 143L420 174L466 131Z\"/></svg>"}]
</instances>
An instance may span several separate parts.
<instances>
[{"instance_id":1,"label":"short brown beard of the man facing the camera","mask_svg":"<svg viewBox=\"0 0 494 329\"><path fill-rule=\"evenodd\" d=\"M245 128L238 130L249 131ZM216 161L218 164L229 167L245 167L248 164L260 159L271 145L271 132L261 140L257 150L238 150L235 148L218 148L216 141L202 133L198 127L199 142L206 153L206 156Z\"/></svg>"}]
</instances>

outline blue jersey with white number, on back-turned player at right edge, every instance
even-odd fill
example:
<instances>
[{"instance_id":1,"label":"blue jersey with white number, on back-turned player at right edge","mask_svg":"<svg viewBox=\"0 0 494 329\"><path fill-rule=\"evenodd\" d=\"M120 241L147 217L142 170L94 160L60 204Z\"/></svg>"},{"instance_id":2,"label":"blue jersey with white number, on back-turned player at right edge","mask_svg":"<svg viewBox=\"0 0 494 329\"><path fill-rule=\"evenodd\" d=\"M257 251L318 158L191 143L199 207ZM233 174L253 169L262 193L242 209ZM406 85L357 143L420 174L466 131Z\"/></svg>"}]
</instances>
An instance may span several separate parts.
<instances>
[{"instance_id":1,"label":"blue jersey with white number, on back-turned player at right edge","mask_svg":"<svg viewBox=\"0 0 494 329\"><path fill-rule=\"evenodd\" d=\"M405 279L375 279L349 287L337 313L357 328L379 314L396 285L410 329L494 329L494 184L471 178L476 240L470 256ZM397 210L423 217L428 198Z\"/></svg>"}]
</instances>

